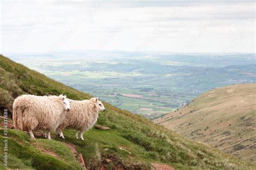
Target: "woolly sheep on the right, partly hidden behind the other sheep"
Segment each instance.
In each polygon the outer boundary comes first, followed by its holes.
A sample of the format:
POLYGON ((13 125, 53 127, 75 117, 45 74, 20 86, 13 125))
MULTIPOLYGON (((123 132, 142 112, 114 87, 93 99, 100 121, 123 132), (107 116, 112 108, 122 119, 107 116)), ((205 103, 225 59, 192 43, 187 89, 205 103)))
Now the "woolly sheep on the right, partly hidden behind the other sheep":
POLYGON ((83 133, 95 125, 99 111, 104 111, 105 107, 98 100, 98 97, 93 97, 90 100, 72 101, 71 111, 66 113, 64 121, 57 128, 59 137, 65 139, 62 130, 64 128, 75 129, 78 139, 78 130, 80 131, 80 139, 84 140, 83 133))

